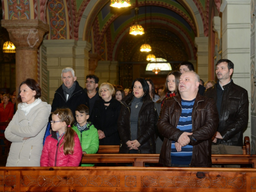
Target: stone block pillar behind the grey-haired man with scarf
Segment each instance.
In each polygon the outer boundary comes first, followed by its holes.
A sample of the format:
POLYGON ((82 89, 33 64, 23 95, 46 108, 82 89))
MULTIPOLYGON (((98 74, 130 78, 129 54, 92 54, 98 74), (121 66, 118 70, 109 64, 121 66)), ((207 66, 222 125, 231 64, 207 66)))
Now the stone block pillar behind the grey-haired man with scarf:
POLYGON ((71 67, 81 87, 85 87, 85 77, 89 73, 89 51, 91 44, 83 40, 58 39, 44 40, 46 47, 47 70, 49 71, 49 102, 52 103, 55 91, 62 84, 61 71, 71 67))

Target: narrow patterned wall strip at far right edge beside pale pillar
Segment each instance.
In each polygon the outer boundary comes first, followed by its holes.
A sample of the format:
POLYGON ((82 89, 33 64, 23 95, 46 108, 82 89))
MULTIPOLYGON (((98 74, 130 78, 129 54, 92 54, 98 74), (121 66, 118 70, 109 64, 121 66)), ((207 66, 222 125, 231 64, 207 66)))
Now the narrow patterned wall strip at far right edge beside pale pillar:
POLYGON ((256 19, 256 0, 251 1, 251 64, 250 64, 250 76, 251 76, 251 154, 256 153, 256 87, 254 85, 253 76, 256 75, 255 67, 255 19, 256 19))

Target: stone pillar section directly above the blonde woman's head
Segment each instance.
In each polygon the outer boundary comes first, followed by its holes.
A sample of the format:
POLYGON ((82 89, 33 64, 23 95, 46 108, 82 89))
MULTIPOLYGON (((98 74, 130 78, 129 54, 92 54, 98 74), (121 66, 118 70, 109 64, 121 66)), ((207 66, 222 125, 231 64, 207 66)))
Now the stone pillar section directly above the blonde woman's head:
POLYGON ((95 75, 99 77, 99 86, 102 82, 118 84, 119 69, 117 61, 98 61, 95 75))

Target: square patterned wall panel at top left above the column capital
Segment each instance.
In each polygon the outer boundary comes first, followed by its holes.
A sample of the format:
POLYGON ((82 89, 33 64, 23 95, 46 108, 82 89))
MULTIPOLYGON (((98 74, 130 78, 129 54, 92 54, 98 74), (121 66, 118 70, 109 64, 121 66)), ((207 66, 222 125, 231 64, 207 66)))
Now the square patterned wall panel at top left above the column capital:
MULTIPOLYGON (((30 19, 30 1, 12 0, 8 1, 8 19, 30 19)), ((33 11, 33 10, 32 10, 33 11)), ((7 19, 7 18, 5 18, 7 19)))

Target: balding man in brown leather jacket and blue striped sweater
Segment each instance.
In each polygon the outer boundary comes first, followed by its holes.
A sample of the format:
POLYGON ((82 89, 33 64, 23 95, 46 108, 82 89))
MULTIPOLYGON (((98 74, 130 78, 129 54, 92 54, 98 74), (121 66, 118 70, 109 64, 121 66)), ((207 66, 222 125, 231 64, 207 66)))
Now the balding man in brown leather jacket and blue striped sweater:
POLYGON ((198 93, 199 81, 195 72, 183 73, 180 95, 164 102, 157 126, 164 136, 159 163, 165 166, 211 166, 211 137, 219 116, 214 100, 198 93))

